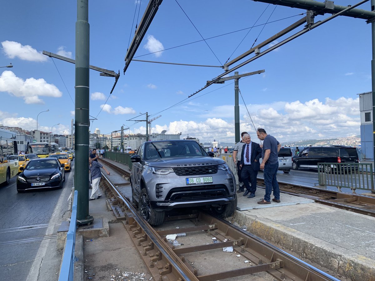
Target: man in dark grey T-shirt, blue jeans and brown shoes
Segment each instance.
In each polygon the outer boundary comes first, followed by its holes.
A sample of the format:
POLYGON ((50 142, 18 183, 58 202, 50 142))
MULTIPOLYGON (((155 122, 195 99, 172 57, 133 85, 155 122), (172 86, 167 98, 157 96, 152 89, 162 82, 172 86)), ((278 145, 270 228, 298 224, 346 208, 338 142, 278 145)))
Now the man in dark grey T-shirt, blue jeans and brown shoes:
POLYGON ((258 202, 258 204, 270 204, 271 193, 273 189, 273 202, 280 203, 280 188, 278 180, 276 179, 276 173, 279 168, 278 154, 281 148, 281 144, 271 135, 267 135, 266 130, 258 128, 257 130, 258 139, 263 141, 262 149, 262 164, 260 165, 261 170, 264 170, 264 184, 266 185, 266 194, 264 199, 258 202))

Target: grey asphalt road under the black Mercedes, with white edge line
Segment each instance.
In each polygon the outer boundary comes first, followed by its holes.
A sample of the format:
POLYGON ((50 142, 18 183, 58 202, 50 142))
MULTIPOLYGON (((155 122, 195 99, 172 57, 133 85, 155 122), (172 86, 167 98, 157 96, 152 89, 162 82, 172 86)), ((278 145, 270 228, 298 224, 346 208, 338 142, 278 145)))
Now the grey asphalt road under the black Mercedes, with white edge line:
POLYGON ((56 236, 69 216, 72 164, 61 189, 17 193, 17 177, 0 187, 0 280, 58 280, 62 251, 56 236))

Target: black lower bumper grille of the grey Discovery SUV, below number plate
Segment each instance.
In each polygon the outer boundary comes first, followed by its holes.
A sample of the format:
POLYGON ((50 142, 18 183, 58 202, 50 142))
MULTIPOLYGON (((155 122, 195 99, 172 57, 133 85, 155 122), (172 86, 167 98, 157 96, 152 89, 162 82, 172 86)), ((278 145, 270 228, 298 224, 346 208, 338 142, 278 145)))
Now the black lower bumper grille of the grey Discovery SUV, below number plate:
POLYGON ((193 185, 172 188, 165 197, 165 201, 209 200, 226 196, 229 196, 229 193, 225 184, 193 185))

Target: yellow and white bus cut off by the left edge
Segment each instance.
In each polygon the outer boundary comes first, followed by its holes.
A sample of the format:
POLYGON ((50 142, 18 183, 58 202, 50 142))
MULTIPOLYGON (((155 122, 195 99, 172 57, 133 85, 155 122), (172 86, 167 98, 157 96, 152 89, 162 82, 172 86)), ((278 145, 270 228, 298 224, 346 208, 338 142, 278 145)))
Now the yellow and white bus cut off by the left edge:
POLYGON ((0 129, 0 184, 8 185, 18 173, 16 134, 0 129))

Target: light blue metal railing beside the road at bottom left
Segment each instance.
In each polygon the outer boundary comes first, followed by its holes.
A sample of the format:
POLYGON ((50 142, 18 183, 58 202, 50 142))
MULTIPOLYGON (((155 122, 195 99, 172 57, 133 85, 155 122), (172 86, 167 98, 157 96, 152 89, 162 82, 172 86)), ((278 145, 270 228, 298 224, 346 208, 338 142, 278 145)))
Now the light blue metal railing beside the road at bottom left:
POLYGON ((72 216, 69 224, 69 231, 66 233, 66 244, 63 256, 63 263, 60 268, 58 281, 73 281, 74 262, 75 262, 75 230, 77 229, 77 199, 78 190, 74 191, 74 200, 72 205, 72 216))

